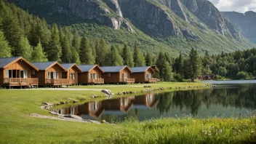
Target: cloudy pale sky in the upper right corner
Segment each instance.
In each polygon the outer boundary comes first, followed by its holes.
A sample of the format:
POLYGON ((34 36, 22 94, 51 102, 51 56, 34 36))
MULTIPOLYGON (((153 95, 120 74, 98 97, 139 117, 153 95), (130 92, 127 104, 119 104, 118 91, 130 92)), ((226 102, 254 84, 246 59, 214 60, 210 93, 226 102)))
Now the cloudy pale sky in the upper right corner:
POLYGON ((209 0, 220 12, 256 12, 256 0, 209 0))

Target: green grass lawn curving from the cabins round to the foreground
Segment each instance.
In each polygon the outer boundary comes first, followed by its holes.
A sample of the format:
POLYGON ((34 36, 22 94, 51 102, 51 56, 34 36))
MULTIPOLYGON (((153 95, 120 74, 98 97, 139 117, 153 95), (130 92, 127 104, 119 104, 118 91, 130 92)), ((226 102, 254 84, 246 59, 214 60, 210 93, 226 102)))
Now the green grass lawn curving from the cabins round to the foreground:
MULTIPOLYGON (((148 85, 148 84, 145 84, 148 85)), ((160 83, 158 85, 152 86, 156 87, 188 87, 190 85, 200 86, 200 83, 160 83)), ((130 87, 130 86, 143 86, 141 84, 132 84, 120 86, 81 86, 73 88, 84 88, 84 89, 111 89, 112 92, 121 91, 134 91, 144 89, 143 87, 130 87)), ((41 110, 39 108, 41 102, 57 103, 62 100, 67 100, 68 97, 74 99, 86 99, 92 95, 101 95, 97 91, 55 91, 55 90, 25 90, 25 89, 0 89, 0 143, 128 143, 132 141, 127 141, 127 137, 131 137, 129 140, 137 140, 137 143, 153 143, 154 139, 152 135, 161 134, 162 132, 171 132, 171 127, 169 129, 169 124, 173 125, 176 123, 180 124, 180 130, 184 130, 186 127, 192 127, 193 121, 201 122, 203 120, 175 120, 175 119, 165 119, 158 120, 159 124, 163 127, 158 127, 158 123, 154 122, 153 125, 149 124, 147 121, 143 123, 135 121, 127 121, 123 124, 107 125, 107 124, 86 124, 77 123, 71 121, 57 121, 51 119, 38 119, 28 116, 28 113, 39 113, 41 115, 49 115, 48 111, 41 110), (155 125, 156 124, 156 125, 155 125), (168 126, 168 127, 167 127, 168 126), (184 127, 183 127, 184 126, 184 127), (152 127, 152 128, 151 128, 152 127), (156 129, 157 128, 157 129, 156 129), (143 130, 144 129, 144 130, 143 130), (148 130, 147 130, 148 129, 148 130), (146 132, 146 139, 143 139, 143 132, 146 132), (120 132, 120 133, 119 133, 120 132), (122 132, 127 132, 129 135, 122 135, 122 132), (136 133, 135 133, 136 132, 136 133), (160 132, 160 133, 159 133, 160 132), (117 135, 116 135, 117 134, 117 135), (116 135, 116 136, 115 136, 116 135), (138 137, 135 139, 135 137, 138 137)), ((218 119, 217 119, 218 120, 218 119)), ((222 121, 219 119, 218 121, 222 121)), ((225 121, 225 120, 223 120, 225 121)), ((228 121, 228 119, 227 119, 228 121)), ((241 140, 253 140, 250 130, 255 128, 255 119, 244 119, 244 120, 233 120, 236 121, 234 124, 250 124, 247 126, 247 130, 242 130, 241 137, 237 139, 241 140), (244 132, 244 133, 243 133, 244 132), (249 138, 251 137, 251 138, 249 138)), ((203 121, 204 122, 204 121, 203 121)), ((210 127, 212 122, 205 120, 204 122, 207 127, 210 127), (208 124, 208 125, 207 125, 208 124)), ((218 124, 217 122, 215 124, 218 124)), ((224 123, 222 127, 235 127, 236 125, 231 125, 230 123, 224 123), (229 126, 225 126, 229 124, 229 126)), ((240 125, 239 125, 240 127, 240 125)), ((245 127, 241 125, 241 127, 245 127)), ((195 135, 199 135, 199 127, 195 129, 195 135)), ((167 132, 167 134, 168 134, 167 132)), ((184 131, 185 132, 185 131, 184 131)), ((227 131, 228 132, 228 131, 227 131)), ((252 132, 252 134, 254 134, 252 132)), ((164 133, 163 133, 164 135, 164 133)), ((176 135, 176 134, 173 134, 176 135)), ((177 133, 180 135, 180 133, 177 133)), ((160 138, 160 137, 159 137, 160 138)), ((196 136, 194 137, 196 140, 196 136)), ((159 139, 160 140, 160 139, 159 139)), ((171 140, 171 139, 170 139, 171 140)), ((204 139, 201 139, 204 141, 204 139)), ((135 143, 136 141, 134 141, 135 143)), ((164 141, 159 141, 164 142, 164 141)), ((192 141, 191 141, 192 142, 192 141)), ((197 141, 194 141, 197 142, 197 141)))

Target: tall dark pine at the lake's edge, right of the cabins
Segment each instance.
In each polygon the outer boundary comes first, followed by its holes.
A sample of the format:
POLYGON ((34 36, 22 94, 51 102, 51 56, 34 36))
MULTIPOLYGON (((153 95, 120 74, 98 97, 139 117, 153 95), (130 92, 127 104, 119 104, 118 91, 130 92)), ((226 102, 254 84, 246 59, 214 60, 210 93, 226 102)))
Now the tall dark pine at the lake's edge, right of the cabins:
POLYGON ((196 51, 196 49, 192 48, 191 52, 189 54, 189 73, 190 73, 190 78, 191 81, 194 81, 194 78, 196 76, 199 76, 200 74, 200 63, 199 63, 199 55, 196 51))

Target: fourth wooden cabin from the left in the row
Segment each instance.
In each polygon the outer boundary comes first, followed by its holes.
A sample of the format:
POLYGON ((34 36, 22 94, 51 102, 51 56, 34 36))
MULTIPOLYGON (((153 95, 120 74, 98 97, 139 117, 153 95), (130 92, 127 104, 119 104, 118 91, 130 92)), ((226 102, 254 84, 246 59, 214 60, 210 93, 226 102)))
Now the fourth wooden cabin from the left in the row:
POLYGON ((104 84, 104 71, 98 65, 79 65, 79 84, 104 84))

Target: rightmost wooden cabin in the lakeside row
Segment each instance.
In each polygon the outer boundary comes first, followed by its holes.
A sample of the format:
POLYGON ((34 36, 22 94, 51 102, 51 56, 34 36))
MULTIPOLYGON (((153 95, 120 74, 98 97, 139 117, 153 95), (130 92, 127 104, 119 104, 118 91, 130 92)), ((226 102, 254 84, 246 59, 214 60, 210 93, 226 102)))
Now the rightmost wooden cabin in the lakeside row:
POLYGON ((131 68, 131 70, 131 77, 134 78, 137 83, 155 83, 157 81, 156 78, 153 78, 155 71, 153 71, 151 66, 135 67, 131 68))

